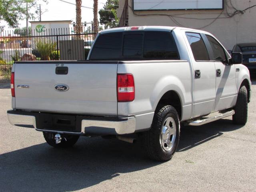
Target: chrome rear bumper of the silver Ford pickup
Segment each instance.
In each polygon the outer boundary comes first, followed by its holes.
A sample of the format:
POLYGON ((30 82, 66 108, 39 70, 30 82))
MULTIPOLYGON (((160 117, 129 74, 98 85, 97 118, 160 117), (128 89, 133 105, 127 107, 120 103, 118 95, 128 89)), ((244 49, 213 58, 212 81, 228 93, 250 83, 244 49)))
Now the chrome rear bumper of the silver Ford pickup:
POLYGON ((43 132, 54 132, 54 133, 64 133, 64 134, 76 134, 76 135, 119 135, 119 134, 131 134, 136 130, 136 118, 134 116, 124 117, 124 118, 97 118, 90 119, 84 116, 81 124, 80 132, 70 132, 64 130, 54 130, 54 129, 40 129, 37 128, 36 116, 38 113, 35 112, 20 112, 15 110, 7 111, 8 120, 10 124, 22 127, 34 127, 37 131, 43 132), (31 115, 30 115, 31 114, 31 115))

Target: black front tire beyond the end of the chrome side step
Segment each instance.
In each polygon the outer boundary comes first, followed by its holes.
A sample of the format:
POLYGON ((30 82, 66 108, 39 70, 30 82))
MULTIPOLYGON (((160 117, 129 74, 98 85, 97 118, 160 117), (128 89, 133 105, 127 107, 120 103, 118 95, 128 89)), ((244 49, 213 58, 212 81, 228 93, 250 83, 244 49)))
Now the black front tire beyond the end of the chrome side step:
POLYGON ((235 114, 232 117, 234 124, 245 125, 247 122, 248 113, 248 98, 246 86, 239 89, 236 106, 234 108, 235 114))

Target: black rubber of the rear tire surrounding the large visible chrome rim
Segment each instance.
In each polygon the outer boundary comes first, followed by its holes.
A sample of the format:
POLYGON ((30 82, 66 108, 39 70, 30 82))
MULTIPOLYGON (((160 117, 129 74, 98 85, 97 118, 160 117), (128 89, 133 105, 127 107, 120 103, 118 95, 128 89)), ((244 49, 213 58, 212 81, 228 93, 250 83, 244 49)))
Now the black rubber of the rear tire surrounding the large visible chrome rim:
MULTIPOLYGON (((170 119, 170 118, 169 118, 170 119)), ((180 120, 178 112, 173 106, 166 105, 156 110, 152 127, 150 130, 142 133, 142 144, 146 155, 152 160, 168 161, 174 155, 178 148, 180 140, 180 120), (162 128, 167 118, 171 117, 175 122, 175 140, 170 150, 164 150, 164 146, 161 143, 162 128)))

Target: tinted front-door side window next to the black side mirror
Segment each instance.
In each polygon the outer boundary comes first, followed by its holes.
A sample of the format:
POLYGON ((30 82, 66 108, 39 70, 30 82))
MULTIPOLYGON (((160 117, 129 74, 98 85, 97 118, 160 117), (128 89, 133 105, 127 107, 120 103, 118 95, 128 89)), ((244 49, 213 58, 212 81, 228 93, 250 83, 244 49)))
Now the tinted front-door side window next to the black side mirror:
POLYGON ((215 61, 221 61, 222 63, 227 63, 226 54, 223 47, 216 41, 213 37, 206 35, 213 51, 213 57, 215 61))

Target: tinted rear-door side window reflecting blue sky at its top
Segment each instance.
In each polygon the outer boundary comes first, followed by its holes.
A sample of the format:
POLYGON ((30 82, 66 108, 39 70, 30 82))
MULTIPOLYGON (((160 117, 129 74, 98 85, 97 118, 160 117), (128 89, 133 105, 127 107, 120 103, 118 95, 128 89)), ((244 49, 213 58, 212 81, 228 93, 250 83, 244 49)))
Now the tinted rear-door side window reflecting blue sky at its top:
POLYGON ((190 47, 192 49, 192 53, 194 55, 194 59, 196 61, 208 61, 209 55, 206 50, 206 46, 204 44, 204 41, 202 40, 202 37, 198 33, 186 33, 186 36, 188 38, 188 42, 190 44, 190 47))

